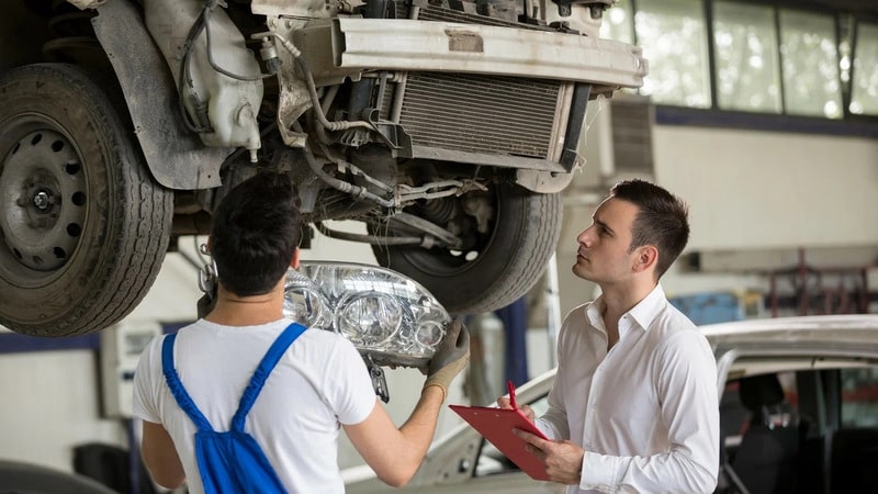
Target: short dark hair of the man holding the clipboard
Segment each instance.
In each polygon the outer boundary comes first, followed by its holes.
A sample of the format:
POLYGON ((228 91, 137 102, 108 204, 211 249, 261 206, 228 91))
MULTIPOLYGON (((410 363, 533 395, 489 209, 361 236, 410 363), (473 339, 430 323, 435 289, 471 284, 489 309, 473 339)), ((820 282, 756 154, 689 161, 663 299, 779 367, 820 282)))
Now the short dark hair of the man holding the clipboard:
POLYGON ((640 210, 631 232, 631 248, 652 245, 658 249, 655 278, 662 278, 689 242, 689 206, 667 190, 645 180, 624 180, 610 195, 640 210))

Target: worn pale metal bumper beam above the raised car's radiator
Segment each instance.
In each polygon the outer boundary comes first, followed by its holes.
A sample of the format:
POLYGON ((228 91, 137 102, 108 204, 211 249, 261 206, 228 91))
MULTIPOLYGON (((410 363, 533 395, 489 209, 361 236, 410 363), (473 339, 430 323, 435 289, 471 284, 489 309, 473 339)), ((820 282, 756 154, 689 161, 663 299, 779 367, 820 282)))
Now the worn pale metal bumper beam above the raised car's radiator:
POLYGON ((493 25, 339 18, 297 30, 293 42, 318 85, 369 70, 437 71, 587 82, 599 93, 639 88, 649 71, 638 46, 493 25))

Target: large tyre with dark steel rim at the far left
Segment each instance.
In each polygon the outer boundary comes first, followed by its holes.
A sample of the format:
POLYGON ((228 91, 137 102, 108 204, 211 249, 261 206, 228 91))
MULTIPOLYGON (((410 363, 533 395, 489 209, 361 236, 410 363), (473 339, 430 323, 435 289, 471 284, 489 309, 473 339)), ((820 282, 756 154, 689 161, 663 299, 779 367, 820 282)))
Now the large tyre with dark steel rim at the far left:
POLYGON ((172 192, 127 117, 75 66, 0 80, 0 324, 34 336, 105 328, 158 274, 172 192))

